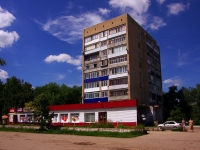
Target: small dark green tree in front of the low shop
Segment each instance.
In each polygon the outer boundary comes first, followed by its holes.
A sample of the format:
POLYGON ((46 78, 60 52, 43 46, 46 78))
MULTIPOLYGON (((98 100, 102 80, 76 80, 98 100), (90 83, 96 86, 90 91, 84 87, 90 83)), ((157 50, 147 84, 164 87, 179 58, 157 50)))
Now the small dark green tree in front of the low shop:
POLYGON ((40 129, 49 129, 52 118, 54 117, 54 113, 49 114, 49 99, 46 94, 38 95, 33 103, 32 107, 34 109, 34 117, 38 118, 38 122, 40 123, 40 129))

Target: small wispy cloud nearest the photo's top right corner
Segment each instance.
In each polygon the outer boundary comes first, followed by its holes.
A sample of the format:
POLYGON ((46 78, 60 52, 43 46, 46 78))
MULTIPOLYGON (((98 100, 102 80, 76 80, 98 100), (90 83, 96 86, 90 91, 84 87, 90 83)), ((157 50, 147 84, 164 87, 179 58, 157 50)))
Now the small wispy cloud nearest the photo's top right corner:
POLYGON ((178 15, 180 12, 189 8, 189 6, 190 6, 190 3, 187 3, 186 5, 182 3, 172 3, 170 5, 167 5, 168 15, 178 15))

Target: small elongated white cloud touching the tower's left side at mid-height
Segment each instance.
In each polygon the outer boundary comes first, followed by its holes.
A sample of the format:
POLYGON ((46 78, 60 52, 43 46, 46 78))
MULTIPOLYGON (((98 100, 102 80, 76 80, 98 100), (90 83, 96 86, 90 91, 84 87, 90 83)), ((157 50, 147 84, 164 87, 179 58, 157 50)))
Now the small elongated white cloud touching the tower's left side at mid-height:
POLYGON ((68 54, 59 54, 59 55, 49 55, 45 60, 46 63, 51 63, 54 61, 57 62, 66 62, 75 66, 79 66, 82 62, 82 56, 79 55, 77 58, 73 58, 68 54))

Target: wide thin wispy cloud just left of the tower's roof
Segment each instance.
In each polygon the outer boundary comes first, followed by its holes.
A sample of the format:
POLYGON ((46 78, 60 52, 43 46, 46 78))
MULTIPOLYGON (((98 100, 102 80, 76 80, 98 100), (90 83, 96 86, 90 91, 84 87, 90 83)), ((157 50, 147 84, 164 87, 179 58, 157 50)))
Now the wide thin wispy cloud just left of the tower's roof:
POLYGON ((82 30, 104 21, 97 13, 84 13, 77 16, 60 16, 48 20, 43 29, 60 40, 74 43, 82 38, 82 30))

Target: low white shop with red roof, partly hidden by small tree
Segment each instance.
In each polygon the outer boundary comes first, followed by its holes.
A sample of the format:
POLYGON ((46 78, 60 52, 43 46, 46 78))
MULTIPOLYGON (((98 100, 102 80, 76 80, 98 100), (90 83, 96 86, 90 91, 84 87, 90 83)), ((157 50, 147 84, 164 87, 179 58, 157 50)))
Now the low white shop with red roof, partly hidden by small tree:
MULTIPOLYGON (((98 102, 86 104, 67 104, 49 106, 50 113, 54 113, 54 126, 85 126, 92 123, 110 122, 114 126, 137 125, 137 100, 123 100, 113 102, 98 102)), ((33 113, 24 109, 11 108, 9 110, 9 124, 31 123, 33 113)))

